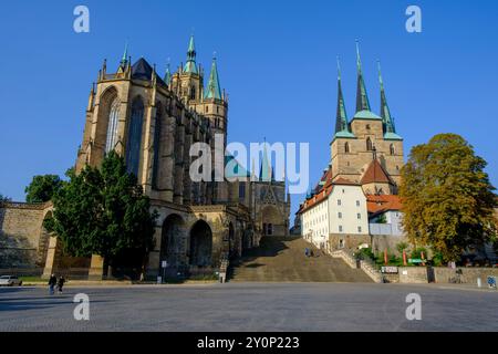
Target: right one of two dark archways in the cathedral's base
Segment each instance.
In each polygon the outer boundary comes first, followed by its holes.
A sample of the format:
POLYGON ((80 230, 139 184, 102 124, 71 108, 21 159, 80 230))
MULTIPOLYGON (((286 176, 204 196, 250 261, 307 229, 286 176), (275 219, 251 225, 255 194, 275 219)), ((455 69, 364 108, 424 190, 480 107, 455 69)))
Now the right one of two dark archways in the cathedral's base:
POLYGON ((190 229, 190 266, 211 266, 212 232, 209 225, 198 220, 190 229))

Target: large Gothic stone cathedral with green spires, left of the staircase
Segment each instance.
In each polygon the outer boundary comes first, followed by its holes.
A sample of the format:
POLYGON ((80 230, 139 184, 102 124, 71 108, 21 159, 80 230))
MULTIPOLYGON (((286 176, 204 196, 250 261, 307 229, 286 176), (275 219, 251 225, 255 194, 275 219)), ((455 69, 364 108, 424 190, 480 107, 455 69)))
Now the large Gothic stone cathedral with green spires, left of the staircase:
MULTIPOLYGON (((212 165, 226 166, 234 159, 225 153, 229 101, 220 86, 216 58, 206 85, 194 37, 185 64, 173 73, 168 65, 160 76, 144 58, 132 63, 127 49, 116 66, 110 72, 104 61, 92 85, 75 169, 100 166, 111 150, 125 158, 128 171, 137 177, 152 209, 159 215, 155 249, 147 257, 147 277, 163 274, 164 264, 170 274, 216 270, 257 247, 262 236, 288 235, 290 197, 286 183, 273 178, 266 146, 258 176, 236 160, 236 168, 221 180, 190 179, 189 152, 195 143, 206 143, 215 152, 215 144, 221 140, 225 156, 219 162, 212 154, 212 165)), ((39 219, 50 216, 50 209, 49 202, 39 219)), ((38 227, 39 231, 28 237, 37 248, 31 261, 37 259, 45 275, 61 264, 71 264, 60 240, 44 232, 41 221, 38 227)), ((103 274, 98 256, 80 264, 87 264, 90 278, 103 274)))

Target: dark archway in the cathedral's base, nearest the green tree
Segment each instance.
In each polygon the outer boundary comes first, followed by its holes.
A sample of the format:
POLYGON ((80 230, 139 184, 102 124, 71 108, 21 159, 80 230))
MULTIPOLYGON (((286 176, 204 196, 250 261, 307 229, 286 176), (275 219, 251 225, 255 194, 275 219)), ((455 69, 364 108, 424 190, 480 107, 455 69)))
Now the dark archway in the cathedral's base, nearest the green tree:
POLYGON ((183 228, 184 219, 177 214, 172 214, 164 220, 160 236, 159 262, 166 261, 168 267, 178 266, 183 228))

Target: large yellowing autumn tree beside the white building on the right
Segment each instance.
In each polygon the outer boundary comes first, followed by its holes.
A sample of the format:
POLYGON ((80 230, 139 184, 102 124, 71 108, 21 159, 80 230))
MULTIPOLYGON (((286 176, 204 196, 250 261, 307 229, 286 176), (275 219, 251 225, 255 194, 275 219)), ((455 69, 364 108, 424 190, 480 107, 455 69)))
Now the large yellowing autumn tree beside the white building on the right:
POLYGON ((438 134, 412 148, 402 169, 403 227, 412 243, 457 261, 470 244, 496 235, 495 189, 486 162, 461 136, 438 134))

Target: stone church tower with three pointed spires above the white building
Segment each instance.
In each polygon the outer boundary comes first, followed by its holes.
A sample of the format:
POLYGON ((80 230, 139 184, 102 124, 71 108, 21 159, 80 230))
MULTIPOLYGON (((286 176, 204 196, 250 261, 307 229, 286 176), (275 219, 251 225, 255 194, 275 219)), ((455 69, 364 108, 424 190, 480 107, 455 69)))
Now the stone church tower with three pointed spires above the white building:
POLYGON ((403 138, 396 134, 378 66, 381 116, 371 110, 356 42, 356 112, 347 122, 338 63, 338 110, 331 143, 332 180, 345 178, 366 194, 397 194, 403 166, 403 138))

